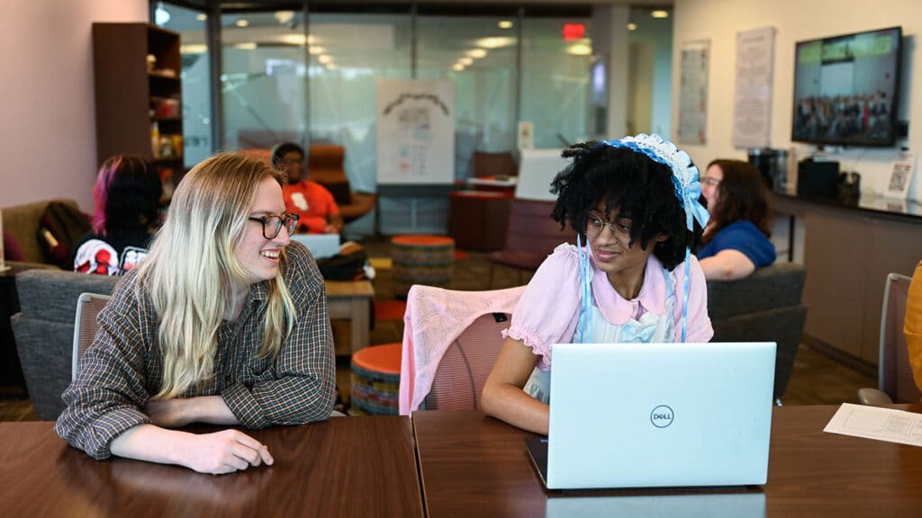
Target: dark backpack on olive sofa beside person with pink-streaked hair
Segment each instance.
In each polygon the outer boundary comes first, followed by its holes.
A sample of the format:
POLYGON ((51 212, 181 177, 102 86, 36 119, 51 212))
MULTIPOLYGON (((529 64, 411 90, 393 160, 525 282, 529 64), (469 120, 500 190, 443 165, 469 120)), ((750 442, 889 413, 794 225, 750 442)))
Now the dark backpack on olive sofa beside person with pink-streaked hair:
POLYGON ((89 217, 76 206, 51 202, 39 218, 39 248, 45 261, 74 269, 74 245, 90 230, 89 217))

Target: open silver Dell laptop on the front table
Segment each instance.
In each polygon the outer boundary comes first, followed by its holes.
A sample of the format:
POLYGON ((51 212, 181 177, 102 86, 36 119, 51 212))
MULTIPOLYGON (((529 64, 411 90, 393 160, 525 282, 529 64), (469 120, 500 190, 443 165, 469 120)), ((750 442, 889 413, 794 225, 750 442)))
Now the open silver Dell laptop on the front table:
POLYGON ((548 489, 764 484, 774 342, 560 344, 548 439, 526 440, 548 489))

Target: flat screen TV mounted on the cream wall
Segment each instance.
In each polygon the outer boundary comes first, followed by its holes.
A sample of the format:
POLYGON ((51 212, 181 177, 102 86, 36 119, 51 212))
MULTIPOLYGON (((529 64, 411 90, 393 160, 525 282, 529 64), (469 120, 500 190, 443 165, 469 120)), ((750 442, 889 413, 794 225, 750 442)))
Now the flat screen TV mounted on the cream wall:
POLYGON ((902 42, 900 27, 798 41, 791 139, 892 146, 902 42))

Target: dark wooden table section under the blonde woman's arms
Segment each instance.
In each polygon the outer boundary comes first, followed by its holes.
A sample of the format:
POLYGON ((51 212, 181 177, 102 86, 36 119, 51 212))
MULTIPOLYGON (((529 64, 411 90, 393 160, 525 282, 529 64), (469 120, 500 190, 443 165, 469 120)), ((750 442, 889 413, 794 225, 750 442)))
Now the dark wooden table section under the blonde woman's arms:
POLYGON ((0 423, 0 515, 421 517, 410 429, 392 416, 250 431, 275 465, 213 476, 95 461, 52 422, 0 423))

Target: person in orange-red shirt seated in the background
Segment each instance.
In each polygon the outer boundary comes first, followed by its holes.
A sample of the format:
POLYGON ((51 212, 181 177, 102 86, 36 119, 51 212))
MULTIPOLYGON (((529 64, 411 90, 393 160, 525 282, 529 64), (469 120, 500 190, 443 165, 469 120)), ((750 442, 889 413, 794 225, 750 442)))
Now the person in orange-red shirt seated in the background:
POLYGON ((285 210, 297 214, 299 232, 309 234, 338 234, 343 228, 343 218, 333 194, 326 187, 307 179, 304 171, 304 149, 293 142, 284 142, 272 149, 272 165, 288 175, 288 184, 282 188, 285 210))

